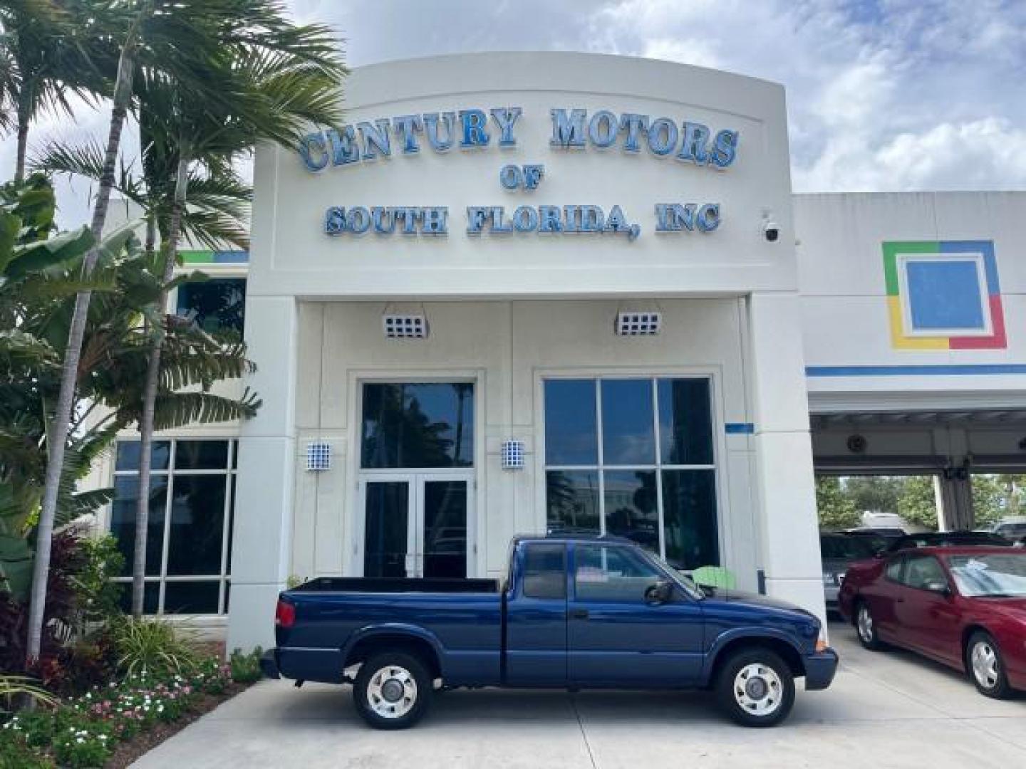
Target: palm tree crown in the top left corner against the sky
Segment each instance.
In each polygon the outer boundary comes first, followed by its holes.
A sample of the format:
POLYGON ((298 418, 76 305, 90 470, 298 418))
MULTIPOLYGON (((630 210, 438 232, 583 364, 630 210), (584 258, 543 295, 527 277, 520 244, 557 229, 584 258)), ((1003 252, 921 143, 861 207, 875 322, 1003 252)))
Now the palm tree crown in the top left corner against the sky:
POLYGON ((70 96, 89 100, 104 88, 108 23, 102 3, 6 0, 0 6, 0 128, 17 136, 15 181, 25 178, 29 128, 39 113, 71 115, 70 96))

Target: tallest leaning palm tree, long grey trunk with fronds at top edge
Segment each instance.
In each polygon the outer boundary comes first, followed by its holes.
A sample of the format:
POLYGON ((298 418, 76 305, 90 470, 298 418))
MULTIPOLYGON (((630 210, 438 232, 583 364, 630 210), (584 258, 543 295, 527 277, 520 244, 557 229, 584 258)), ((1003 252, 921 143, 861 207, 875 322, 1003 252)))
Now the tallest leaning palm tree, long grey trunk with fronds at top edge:
MULTIPOLYGON (((148 72, 171 74, 180 88, 201 97, 207 105, 220 103, 226 93, 222 83, 208 77, 206 63, 231 63, 252 56, 271 59, 295 56, 307 65, 311 74, 322 73, 337 78, 342 73, 330 32, 320 26, 292 25, 275 0, 124 0, 115 7, 118 17, 124 21, 124 32, 114 81, 104 170, 90 227, 97 239, 107 219, 121 131, 132 105, 132 81, 141 66, 148 72)), ((303 87, 302 77, 300 81, 293 84, 303 87)), ((286 138, 294 133, 292 130, 286 138)), ((283 131, 272 138, 282 135, 283 131)), ((173 250, 169 253, 173 254, 173 250)), ((97 257, 95 249, 86 255, 82 266, 85 277, 91 274, 97 257)), ((61 390, 47 434, 49 460, 39 516, 27 643, 30 660, 39 656, 53 517, 90 298, 88 290, 80 292, 76 298, 65 349, 61 390)))

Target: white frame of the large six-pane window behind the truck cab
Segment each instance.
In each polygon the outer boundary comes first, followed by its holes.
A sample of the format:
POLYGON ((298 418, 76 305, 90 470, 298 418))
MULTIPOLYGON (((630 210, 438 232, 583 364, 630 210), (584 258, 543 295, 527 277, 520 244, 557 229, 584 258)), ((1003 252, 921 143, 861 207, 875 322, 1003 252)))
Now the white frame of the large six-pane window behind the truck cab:
POLYGON ((723 525, 724 504, 723 491, 725 488, 722 477, 723 457, 725 456, 725 446, 723 432, 723 415, 721 413, 722 396, 718 391, 719 377, 716 372, 704 368, 672 368, 672 369, 539 369, 535 375, 536 386, 536 440, 538 451, 536 452, 536 473, 540 481, 536 484, 536 499, 539 510, 539 526, 542 531, 548 530, 548 473, 557 472, 594 472, 598 475, 598 515, 599 531, 604 534, 606 531, 605 515, 605 477, 606 472, 616 471, 653 471, 656 473, 656 499, 659 526, 659 552, 655 553, 663 561, 666 560, 666 533, 665 533, 665 505, 663 499, 663 471, 708 471, 712 473, 714 514, 716 517, 716 548, 717 560, 722 565, 724 555, 729 552, 729 532, 723 525), (547 461, 546 447, 546 406, 545 406, 545 385, 547 381, 558 379, 589 379, 595 386, 595 410, 596 410, 596 464, 549 464, 547 461), (604 438, 602 434, 602 388, 604 379, 641 379, 648 381, 652 389, 653 404, 653 428, 654 428, 654 463, 638 464, 605 464, 604 463, 604 438), (659 413, 659 381, 662 379, 703 379, 709 386, 709 423, 710 441, 712 443, 712 463, 702 464, 676 464, 664 463, 662 461, 662 436, 660 435, 660 413, 659 413))

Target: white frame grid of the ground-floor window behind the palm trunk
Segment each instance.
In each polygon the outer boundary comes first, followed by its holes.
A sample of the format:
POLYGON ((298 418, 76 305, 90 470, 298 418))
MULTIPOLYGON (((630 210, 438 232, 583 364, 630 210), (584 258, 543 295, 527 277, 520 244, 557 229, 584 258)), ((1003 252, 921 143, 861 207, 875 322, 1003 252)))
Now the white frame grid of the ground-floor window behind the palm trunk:
MULTIPOLYGON (((165 616, 164 612, 164 598, 166 593, 166 586, 170 582, 218 582, 218 610, 215 612, 185 612, 189 615, 195 616, 227 616, 228 614, 228 603, 229 603, 229 593, 231 589, 232 575, 228 568, 228 563, 231 560, 231 552, 229 549, 229 542, 232 541, 232 527, 234 525, 234 513, 235 513, 235 493, 238 490, 237 476, 238 476, 238 448, 239 440, 237 437, 230 436, 171 436, 171 437, 155 437, 154 443, 167 442, 169 444, 167 468, 163 470, 151 470, 150 475, 152 478, 163 478, 166 485, 167 491, 164 499, 164 527, 162 532, 161 550, 160 550, 160 570, 156 574, 147 574, 144 577, 144 581, 147 585, 152 583, 157 583, 157 608, 156 611, 151 614, 151 616, 165 616), (226 467, 216 468, 212 470, 179 470, 176 466, 176 453, 177 444, 182 441, 193 443, 199 441, 206 442, 218 442, 227 443, 226 452, 226 467), (222 534, 221 534, 221 567, 219 574, 168 574, 167 564, 168 564, 168 552, 170 547, 170 527, 171 527, 171 511, 174 501, 174 477, 197 477, 197 476, 220 476, 225 479, 225 508, 222 513, 222 534)), ((115 444, 115 449, 113 452, 113 460, 111 463, 111 478, 112 484, 118 478, 132 478, 139 477, 139 470, 118 470, 117 469, 117 444, 119 443, 139 443, 137 438, 118 438, 115 444)), ((107 516, 107 532, 111 533, 111 525, 113 524, 113 503, 109 507, 107 516)), ((112 581, 131 585, 132 578, 131 575, 117 576, 113 577, 112 581)), ((144 588, 145 590, 145 588, 144 588)), ((166 614, 166 616, 174 616, 180 612, 172 612, 171 614, 166 614)))

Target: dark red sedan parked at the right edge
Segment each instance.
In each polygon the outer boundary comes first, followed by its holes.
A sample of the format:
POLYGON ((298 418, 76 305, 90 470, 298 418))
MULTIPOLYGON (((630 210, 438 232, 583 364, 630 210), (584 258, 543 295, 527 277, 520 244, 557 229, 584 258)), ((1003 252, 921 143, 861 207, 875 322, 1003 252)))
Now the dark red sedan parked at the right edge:
POLYGON ((983 694, 1026 690, 1026 551, 918 548, 852 564, 841 615, 867 649, 911 649, 983 694))

